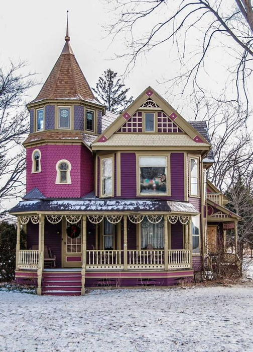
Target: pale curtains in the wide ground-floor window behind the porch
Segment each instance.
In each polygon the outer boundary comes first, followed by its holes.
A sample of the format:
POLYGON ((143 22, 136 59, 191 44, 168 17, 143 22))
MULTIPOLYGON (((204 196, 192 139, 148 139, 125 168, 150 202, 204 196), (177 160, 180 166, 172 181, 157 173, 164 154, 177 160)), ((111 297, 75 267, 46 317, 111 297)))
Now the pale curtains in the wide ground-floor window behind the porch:
POLYGON ((141 249, 164 249, 164 221, 152 224, 145 217, 141 223, 141 249))

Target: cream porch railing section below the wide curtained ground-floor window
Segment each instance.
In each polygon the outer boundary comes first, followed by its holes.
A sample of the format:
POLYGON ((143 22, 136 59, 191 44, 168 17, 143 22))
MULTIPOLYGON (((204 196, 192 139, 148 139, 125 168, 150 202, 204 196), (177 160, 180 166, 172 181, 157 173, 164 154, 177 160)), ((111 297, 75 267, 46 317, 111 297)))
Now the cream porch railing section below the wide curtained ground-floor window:
POLYGON ((129 250, 128 269, 164 269, 164 250, 129 250))

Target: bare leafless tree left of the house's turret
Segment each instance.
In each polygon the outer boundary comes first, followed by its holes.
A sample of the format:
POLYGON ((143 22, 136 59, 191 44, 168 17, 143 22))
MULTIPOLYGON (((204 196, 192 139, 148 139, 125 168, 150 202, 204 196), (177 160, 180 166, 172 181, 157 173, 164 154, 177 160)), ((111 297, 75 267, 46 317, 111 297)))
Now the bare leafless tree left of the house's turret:
POLYGON ((0 216, 6 214, 6 199, 24 190, 26 167, 22 142, 29 132, 28 111, 23 98, 35 82, 33 75, 22 74, 25 62, 0 67, 0 216))

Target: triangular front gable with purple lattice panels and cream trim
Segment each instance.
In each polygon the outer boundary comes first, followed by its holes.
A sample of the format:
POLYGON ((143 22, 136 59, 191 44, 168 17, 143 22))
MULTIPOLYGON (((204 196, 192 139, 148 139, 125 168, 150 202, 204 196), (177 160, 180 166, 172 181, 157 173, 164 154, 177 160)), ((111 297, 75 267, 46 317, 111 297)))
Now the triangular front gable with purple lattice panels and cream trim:
POLYGON ((92 147, 101 144, 106 146, 107 140, 117 133, 144 133, 145 135, 152 134, 153 137, 160 133, 186 134, 193 146, 196 144, 196 146, 203 146, 205 150, 210 149, 207 140, 151 87, 146 89, 96 138, 92 147), (147 112, 155 114, 156 129, 154 132, 144 131, 144 114, 147 112))

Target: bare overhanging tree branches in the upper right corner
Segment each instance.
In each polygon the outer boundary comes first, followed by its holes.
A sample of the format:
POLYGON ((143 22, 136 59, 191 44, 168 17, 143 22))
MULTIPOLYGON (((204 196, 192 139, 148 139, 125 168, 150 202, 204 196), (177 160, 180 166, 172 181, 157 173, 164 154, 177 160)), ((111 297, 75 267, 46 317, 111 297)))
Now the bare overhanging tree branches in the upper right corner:
MULTIPOLYGON (((107 0, 118 15, 109 27, 113 38, 123 34, 128 69, 142 53, 167 43, 176 50, 180 72, 166 82, 171 90, 190 86, 205 95, 203 76, 212 75, 206 65, 212 51, 225 62, 224 77, 232 80, 235 94, 229 100, 243 101, 248 109, 247 82, 252 73, 253 11, 251 0, 107 0), (143 28, 143 30, 142 30, 143 28), (218 48, 218 50, 217 50, 218 48)), ((220 92, 228 90, 224 85, 220 92)), ((229 87, 229 90, 230 87, 229 87)), ((232 92, 230 92, 232 93, 232 92)))

